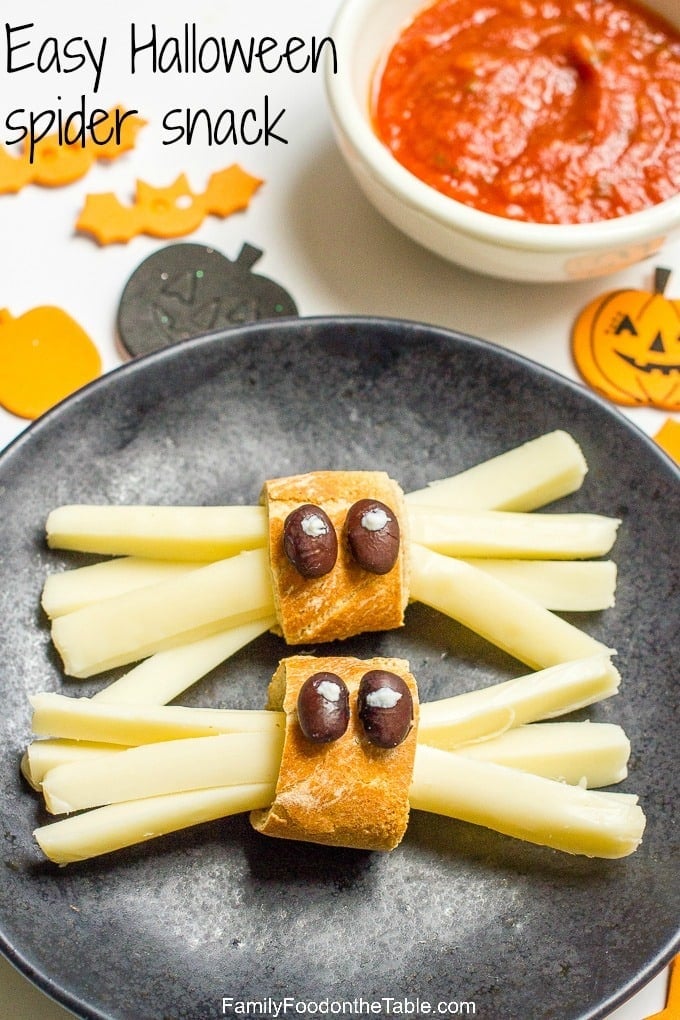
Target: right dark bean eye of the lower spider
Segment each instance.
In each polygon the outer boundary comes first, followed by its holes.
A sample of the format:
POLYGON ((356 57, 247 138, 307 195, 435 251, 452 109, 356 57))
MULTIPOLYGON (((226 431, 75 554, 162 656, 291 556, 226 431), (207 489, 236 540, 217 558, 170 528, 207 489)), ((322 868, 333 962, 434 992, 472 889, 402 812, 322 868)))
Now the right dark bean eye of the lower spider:
POLYGON ((413 725, 413 698, 397 673, 371 669, 359 684, 359 719, 366 736, 378 748, 396 748, 413 725))

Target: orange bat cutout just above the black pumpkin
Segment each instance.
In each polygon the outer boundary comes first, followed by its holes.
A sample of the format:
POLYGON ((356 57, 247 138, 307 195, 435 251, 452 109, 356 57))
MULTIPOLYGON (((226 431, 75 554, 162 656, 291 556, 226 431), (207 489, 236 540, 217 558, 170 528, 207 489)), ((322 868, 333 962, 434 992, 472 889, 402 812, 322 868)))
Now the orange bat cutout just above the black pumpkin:
POLYGON ((138 181, 133 205, 123 205, 110 192, 88 195, 75 226, 101 245, 126 242, 138 234, 179 238, 210 214, 224 217, 246 209, 262 183, 236 163, 213 173, 203 194, 192 191, 184 173, 166 188, 138 181))

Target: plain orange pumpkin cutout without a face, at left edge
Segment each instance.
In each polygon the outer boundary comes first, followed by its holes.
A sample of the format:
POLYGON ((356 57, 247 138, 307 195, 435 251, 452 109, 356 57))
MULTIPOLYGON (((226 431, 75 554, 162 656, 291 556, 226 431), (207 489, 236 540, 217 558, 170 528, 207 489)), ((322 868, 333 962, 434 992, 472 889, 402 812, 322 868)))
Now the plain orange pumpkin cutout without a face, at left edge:
POLYGON ((60 308, 0 309, 0 404, 12 414, 37 418, 101 370, 97 348, 60 308))

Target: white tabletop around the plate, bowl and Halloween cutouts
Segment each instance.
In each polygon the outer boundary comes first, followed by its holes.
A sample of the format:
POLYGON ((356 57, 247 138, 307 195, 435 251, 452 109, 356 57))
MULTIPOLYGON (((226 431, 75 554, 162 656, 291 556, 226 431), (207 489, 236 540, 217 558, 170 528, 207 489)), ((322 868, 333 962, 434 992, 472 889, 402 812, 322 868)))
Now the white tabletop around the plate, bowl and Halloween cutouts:
MULTIPOLYGON (((86 95, 92 106, 120 103, 148 121, 135 150, 111 163, 97 163, 69 187, 29 186, 0 196, 2 285, 0 308, 17 316, 38 305, 66 310, 94 340, 104 370, 121 363, 115 347, 115 315, 124 284, 135 268, 163 242, 136 238, 126 245, 98 247, 76 236, 73 224, 89 193, 112 191, 128 201, 139 177, 156 187, 186 172, 194 191, 203 191, 211 172, 232 162, 265 184, 250 208, 227 219, 207 218, 184 240, 212 246, 236 258, 244 242, 263 250, 257 272, 283 285, 303 315, 357 313, 403 316, 470 333, 523 354, 576 379, 571 354, 573 319, 591 298, 621 288, 646 289, 655 264, 677 272, 670 293, 680 292, 680 245, 647 262, 606 279, 569 285, 520 285, 491 279, 450 265, 420 249, 384 222, 367 204, 333 143, 320 74, 171 75, 130 73, 129 27, 159 35, 179 35, 186 21, 211 33, 248 38, 326 35, 337 0, 116 0, 113 5, 85 0, 6 0, 0 24, 0 125, 7 113, 23 107, 51 108, 61 96, 67 111, 86 95), (21 36, 30 41, 13 64, 38 60, 41 42, 84 36, 107 39, 99 92, 92 72, 68 74, 29 67, 9 73, 4 24, 33 22, 21 36), (279 122, 287 145, 213 146, 195 140, 164 146, 166 110, 201 106, 219 112, 261 105, 268 94, 285 113, 279 122)), ((18 36, 13 37, 18 39, 18 36)), ((2 128, 0 128, 2 130, 2 128)), ((0 136, 0 142, 4 137, 0 136)), ((178 239, 182 240, 182 239, 178 239)), ((669 416, 645 408, 625 411, 639 428, 655 435, 669 416)), ((0 409, 0 449, 29 423, 0 409)), ((661 1010, 668 974, 659 974, 610 1020, 643 1020, 661 1010)), ((0 1016, 12 1020, 64 1020, 70 1013, 48 1000, 0 958, 0 1016)))

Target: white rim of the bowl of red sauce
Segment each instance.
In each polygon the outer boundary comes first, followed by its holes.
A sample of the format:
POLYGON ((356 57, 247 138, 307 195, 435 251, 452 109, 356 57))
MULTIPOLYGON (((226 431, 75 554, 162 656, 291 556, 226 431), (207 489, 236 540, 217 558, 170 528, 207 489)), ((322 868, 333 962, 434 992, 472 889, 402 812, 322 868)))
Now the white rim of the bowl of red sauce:
MULTIPOLYGON (((468 206, 420 181, 389 153, 373 132, 369 120, 370 80, 365 83, 365 106, 359 101, 351 70, 356 41, 365 35, 364 21, 372 10, 389 6, 393 0, 344 0, 330 28, 337 67, 325 64, 325 90, 335 132, 353 150, 370 176, 414 213, 427 216, 471 238, 517 249, 543 252, 576 252, 611 249, 613 245, 659 241, 680 225, 680 193, 646 209, 613 219, 589 223, 535 223, 511 219, 468 206)), ((434 0, 430 0, 434 2, 434 0)), ((413 12, 427 7, 428 0, 412 0, 413 12)), ((404 19, 402 19, 404 20, 404 19)), ((375 68, 389 40, 376 43, 375 68)))

